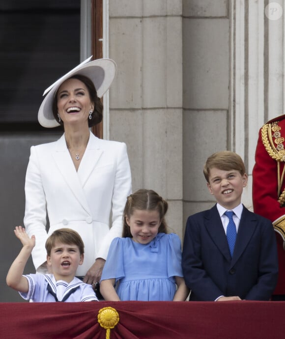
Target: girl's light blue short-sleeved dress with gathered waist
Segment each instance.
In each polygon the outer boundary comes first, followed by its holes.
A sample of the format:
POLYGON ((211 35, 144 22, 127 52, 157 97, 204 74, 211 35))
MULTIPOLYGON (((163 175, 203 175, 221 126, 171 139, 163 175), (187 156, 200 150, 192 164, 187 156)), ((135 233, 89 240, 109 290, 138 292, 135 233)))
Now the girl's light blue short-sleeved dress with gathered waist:
POLYGON ((146 245, 132 238, 115 238, 103 269, 102 280, 115 279, 122 301, 171 301, 175 276, 183 277, 178 235, 158 233, 146 245))

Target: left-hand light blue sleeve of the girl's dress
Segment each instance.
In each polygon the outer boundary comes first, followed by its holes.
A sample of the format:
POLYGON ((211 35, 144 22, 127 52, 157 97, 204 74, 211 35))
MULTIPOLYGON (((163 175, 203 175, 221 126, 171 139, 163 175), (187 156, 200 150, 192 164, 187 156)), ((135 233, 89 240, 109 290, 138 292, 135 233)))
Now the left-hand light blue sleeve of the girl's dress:
POLYGON ((115 282, 125 276, 123 242, 127 238, 114 238, 103 268, 102 280, 115 279, 115 282))

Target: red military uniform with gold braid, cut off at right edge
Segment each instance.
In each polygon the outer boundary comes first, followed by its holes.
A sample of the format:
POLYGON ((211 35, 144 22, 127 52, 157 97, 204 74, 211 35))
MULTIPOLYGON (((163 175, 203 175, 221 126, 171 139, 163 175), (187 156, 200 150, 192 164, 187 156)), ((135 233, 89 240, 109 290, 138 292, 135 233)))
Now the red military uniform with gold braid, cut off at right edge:
POLYGON ((270 219, 276 231, 279 277, 274 294, 285 295, 285 115, 261 127, 255 160, 254 212, 270 219))

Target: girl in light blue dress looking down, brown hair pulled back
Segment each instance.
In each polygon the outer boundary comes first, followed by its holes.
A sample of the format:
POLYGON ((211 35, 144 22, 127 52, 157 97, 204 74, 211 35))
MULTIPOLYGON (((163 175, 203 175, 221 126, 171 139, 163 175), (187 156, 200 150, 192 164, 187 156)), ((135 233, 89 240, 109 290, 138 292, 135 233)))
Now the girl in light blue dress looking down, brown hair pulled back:
POLYGON ((167 234, 167 209, 167 201, 152 190, 139 190, 127 198, 122 238, 113 240, 102 273, 100 292, 105 300, 187 298, 181 242, 176 234, 167 234))

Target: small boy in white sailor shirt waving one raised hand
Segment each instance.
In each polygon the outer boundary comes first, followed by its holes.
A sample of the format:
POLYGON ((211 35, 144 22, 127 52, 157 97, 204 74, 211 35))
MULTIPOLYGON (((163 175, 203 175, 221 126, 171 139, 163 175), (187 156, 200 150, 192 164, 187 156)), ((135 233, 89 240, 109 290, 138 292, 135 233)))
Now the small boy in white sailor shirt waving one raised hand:
POLYGON ((16 226, 15 235, 23 248, 13 261, 6 277, 7 285, 33 302, 98 301, 91 285, 75 277, 84 259, 84 244, 80 235, 69 228, 55 230, 46 241, 47 264, 53 274, 23 275, 35 246, 35 237, 28 237, 25 228, 16 226))

